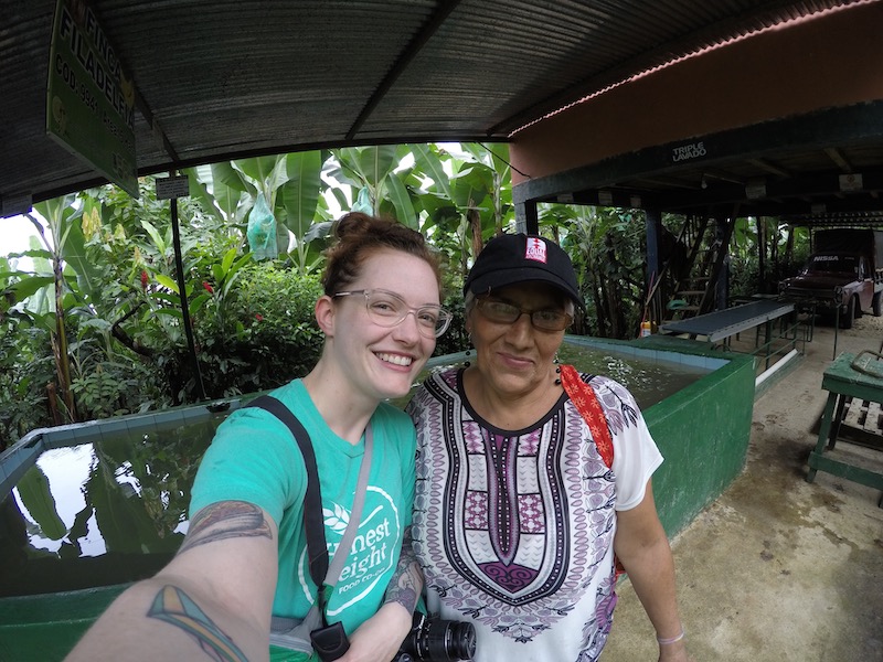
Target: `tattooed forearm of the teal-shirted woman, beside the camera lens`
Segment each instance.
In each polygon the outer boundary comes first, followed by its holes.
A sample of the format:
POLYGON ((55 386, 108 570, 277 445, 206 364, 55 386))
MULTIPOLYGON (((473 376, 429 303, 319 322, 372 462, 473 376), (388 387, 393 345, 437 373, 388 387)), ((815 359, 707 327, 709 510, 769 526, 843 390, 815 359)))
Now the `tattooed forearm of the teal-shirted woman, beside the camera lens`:
POLYGON ((423 572, 405 528, 402 555, 390 579, 383 606, 350 638, 350 650, 340 662, 392 660, 411 630, 412 616, 423 591, 423 572))

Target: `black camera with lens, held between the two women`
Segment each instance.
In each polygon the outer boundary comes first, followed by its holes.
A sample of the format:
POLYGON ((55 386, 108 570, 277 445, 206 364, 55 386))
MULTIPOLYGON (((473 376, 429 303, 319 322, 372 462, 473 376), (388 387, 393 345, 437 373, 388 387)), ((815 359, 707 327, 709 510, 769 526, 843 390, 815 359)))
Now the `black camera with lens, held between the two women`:
POLYGON ((476 629, 466 621, 414 613, 414 626, 393 662, 458 662, 476 654, 476 629))

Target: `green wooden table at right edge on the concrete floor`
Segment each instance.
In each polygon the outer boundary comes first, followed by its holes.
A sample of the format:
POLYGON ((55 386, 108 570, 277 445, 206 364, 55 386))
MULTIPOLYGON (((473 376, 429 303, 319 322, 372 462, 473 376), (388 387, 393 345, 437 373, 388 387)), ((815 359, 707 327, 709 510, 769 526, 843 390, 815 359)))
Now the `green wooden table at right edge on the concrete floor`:
MULTIPOLYGON (((819 426, 819 440, 809 456, 807 481, 812 482, 817 471, 839 476, 849 481, 870 488, 883 490, 883 455, 871 458, 868 462, 857 462, 858 458, 831 457, 843 420, 843 410, 848 398, 861 398, 870 403, 883 403, 883 359, 874 352, 861 352, 858 355, 849 352, 840 354, 825 371, 822 389, 828 392, 828 402, 819 426), (827 448, 826 448, 827 442, 827 448)), ((862 445, 883 453, 883 444, 877 446, 862 445)), ((883 506, 883 498, 880 505, 883 506)))

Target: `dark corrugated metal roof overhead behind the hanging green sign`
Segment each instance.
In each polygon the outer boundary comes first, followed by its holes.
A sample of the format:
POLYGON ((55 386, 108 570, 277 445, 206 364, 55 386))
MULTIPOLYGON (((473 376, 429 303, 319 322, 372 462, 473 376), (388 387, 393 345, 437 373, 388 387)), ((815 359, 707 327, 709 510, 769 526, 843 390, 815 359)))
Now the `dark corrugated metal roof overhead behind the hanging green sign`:
MULTIPOLYGON (((93 0, 139 173, 320 146, 502 140, 703 47, 860 0, 93 0), (151 129, 151 118, 166 138, 151 129)), ((0 200, 102 177, 45 132, 54 0, 2 0, 0 200)))

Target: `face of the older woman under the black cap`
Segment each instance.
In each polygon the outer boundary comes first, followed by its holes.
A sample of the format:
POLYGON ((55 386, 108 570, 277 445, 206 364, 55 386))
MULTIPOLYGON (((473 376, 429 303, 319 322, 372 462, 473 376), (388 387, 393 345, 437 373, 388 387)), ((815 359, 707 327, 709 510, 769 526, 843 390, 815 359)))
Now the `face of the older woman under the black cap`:
MULTIPOLYGON (((522 310, 565 310, 563 295, 554 287, 530 281, 493 290, 492 299, 522 310)), ((564 331, 543 331, 529 314, 512 323, 489 320, 479 307, 467 319, 476 349, 476 367, 481 388, 502 397, 521 397, 547 388, 554 380, 553 361, 564 331)))

